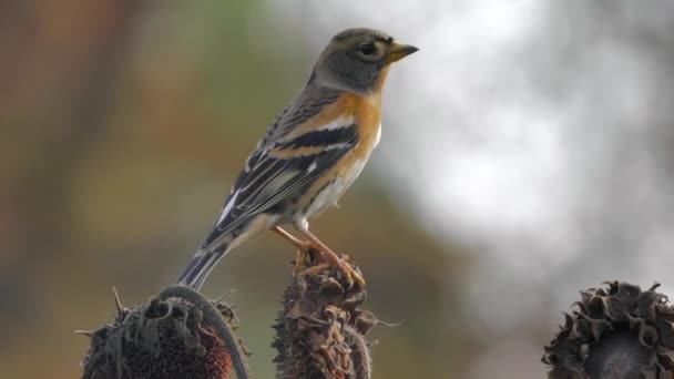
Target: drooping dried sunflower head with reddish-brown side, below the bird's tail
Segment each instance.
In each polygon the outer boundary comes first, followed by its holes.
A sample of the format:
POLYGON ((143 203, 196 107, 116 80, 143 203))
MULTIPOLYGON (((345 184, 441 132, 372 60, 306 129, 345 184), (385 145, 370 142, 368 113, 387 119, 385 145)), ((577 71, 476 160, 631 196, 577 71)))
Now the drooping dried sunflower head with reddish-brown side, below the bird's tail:
POLYGON ((233 362, 219 322, 233 315, 196 293, 187 295, 160 295, 130 309, 118 301, 114 322, 89 334, 83 378, 226 378, 233 362))

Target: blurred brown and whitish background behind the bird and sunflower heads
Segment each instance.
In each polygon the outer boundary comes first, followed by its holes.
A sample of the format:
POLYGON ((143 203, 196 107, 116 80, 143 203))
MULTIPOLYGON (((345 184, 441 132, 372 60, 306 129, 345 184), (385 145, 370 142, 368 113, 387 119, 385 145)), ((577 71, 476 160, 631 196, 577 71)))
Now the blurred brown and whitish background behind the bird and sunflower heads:
MULTIPOLYGON (((418 45, 371 164, 313 229, 360 264, 375 378, 542 378, 578 290, 674 281, 674 3, 0 3, 0 377, 74 378, 92 329, 172 284, 329 38, 418 45), (507 372, 507 373, 504 373, 507 372)), ((294 250, 229 297, 258 378, 294 250)))

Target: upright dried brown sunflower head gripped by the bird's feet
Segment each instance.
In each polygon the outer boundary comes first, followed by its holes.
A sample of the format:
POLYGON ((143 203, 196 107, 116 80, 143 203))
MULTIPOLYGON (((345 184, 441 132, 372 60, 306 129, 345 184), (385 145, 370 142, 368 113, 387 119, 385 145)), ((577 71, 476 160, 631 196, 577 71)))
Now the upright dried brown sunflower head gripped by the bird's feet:
MULTIPOLYGON (((320 262, 312 262, 316 267, 320 262)), ((339 273, 325 268, 298 275, 286 287, 274 328, 277 378, 367 379, 371 361, 365 335, 378 321, 359 309, 364 288, 347 288, 339 273)))

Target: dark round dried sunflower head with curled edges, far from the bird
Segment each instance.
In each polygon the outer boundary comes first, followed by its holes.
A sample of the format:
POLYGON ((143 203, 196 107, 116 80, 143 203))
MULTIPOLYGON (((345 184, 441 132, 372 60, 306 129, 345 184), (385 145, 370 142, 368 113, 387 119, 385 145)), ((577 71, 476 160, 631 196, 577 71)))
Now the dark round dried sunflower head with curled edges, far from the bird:
POLYGON ((581 291, 542 360, 551 379, 674 378, 674 308, 655 284, 581 291))

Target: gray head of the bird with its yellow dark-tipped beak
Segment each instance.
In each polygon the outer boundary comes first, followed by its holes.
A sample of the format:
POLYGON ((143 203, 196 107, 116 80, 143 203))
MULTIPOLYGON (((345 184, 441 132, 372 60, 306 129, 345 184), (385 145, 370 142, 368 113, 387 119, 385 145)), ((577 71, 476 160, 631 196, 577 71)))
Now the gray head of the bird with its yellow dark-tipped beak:
POLYGON ((417 50, 378 30, 347 29, 333 37, 309 82, 356 93, 378 91, 388 65, 417 50))

